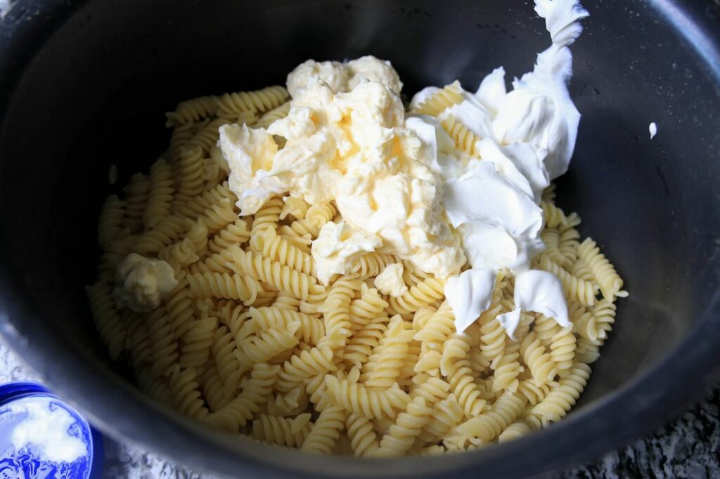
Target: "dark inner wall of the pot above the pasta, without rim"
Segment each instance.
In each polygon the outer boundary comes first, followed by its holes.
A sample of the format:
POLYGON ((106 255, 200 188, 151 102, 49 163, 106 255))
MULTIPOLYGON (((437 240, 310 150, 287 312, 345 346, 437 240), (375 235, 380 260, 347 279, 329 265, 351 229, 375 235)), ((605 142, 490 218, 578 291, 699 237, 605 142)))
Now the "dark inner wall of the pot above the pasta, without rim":
MULTIPOLYGON (((720 211, 708 208, 720 180, 718 124, 707 123, 720 111, 713 71, 653 6, 587 6, 570 88, 582 121, 558 202, 580 214, 582 235, 598 241, 630 296, 582 407, 669 354, 718 287, 720 264, 720 211)), ((365 54, 391 60, 408 97, 455 78, 474 90, 499 65, 508 78, 531 70, 548 45, 521 0, 86 1, 24 53, 32 61, 0 140, 4 255, 58 342, 108 365, 113 383, 131 381, 109 361, 83 286, 94 280, 102 201, 166 148, 164 111, 284 84, 307 58, 365 54)))

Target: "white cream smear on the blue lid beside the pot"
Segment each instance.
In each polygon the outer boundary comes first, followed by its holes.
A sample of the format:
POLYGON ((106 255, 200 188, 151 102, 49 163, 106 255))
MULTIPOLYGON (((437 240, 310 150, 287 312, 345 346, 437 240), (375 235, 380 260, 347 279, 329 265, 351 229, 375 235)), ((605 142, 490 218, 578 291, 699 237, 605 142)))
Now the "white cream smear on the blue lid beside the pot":
POLYGON ((55 403, 50 409, 47 398, 32 397, 13 401, 6 407, 14 416, 27 415, 10 433, 15 450, 32 445, 43 460, 50 462, 73 462, 87 455, 83 440, 68 432, 77 419, 63 407, 55 403))

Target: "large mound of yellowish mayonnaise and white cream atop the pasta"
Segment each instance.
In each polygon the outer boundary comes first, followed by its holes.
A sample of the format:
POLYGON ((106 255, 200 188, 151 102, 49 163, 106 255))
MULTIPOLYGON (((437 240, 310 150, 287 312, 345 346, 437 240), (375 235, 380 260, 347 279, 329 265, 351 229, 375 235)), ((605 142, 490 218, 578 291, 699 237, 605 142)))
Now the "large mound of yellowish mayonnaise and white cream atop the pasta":
MULTIPOLYGON (((496 272, 509 268, 519 309, 567 324, 559 280, 529 269, 544 249, 541 192, 567 171, 575 149, 580 113, 567 91, 568 46, 588 12, 577 0, 535 4, 552 45, 534 70, 508 92, 505 70, 496 68, 438 118, 405 114, 402 83, 386 61, 299 65, 287 78, 286 118, 268 129, 220 128, 240 214, 284 193, 309 204, 334 201, 343 222, 327 224, 312 245, 321 282, 349 273, 364 252, 392 252, 448 279, 446 298, 462 332, 490 305, 496 272), (449 115, 480 137, 480 158, 454 147, 440 124, 449 115), (287 140, 282 149, 274 135, 287 140), (460 274, 466 263, 472 268, 460 274)), ((411 105, 437 91, 423 89, 411 105)), ((401 279, 394 268, 376 286, 397 296, 401 279)), ((519 317, 518 310, 500 318, 508 334, 519 317)))

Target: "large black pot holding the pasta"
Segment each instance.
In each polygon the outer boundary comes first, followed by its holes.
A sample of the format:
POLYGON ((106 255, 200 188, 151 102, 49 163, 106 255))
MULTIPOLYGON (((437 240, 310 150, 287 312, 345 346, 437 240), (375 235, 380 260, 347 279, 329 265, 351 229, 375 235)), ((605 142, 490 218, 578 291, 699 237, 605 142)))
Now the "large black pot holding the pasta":
POLYGON ((559 424, 396 460, 238 441, 137 391, 99 342, 83 288, 102 199, 118 190, 109 165, 118 184, 148 168, 177 101, 284 83, 307 58, 367 53, 392 60, 407 93, 455 78, 474 88, 498 65, 519 76, 549 45, 526 0, 10 0, 0 17, 1 333, 104 432, 229 476, 516 477, 651 431, 714 382, 720 359, 720 7, 586 3, 592 16, 572 47, 583 117, 559 203, 580 213, 631 295, 559 424))

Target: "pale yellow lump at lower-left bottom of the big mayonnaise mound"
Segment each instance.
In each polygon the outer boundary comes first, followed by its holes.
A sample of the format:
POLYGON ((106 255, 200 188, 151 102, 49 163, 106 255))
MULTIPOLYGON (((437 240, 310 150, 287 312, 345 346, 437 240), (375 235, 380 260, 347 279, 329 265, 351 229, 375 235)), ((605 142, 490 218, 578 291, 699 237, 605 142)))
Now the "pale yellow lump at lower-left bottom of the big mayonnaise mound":
POLYGON ((359 257, 381 245, 382 240, 376 235, 363 234, 344 221, 325 223, 318 239, 312 242, 318 280, 330 283, 334 275, 348 273, 359 257))

